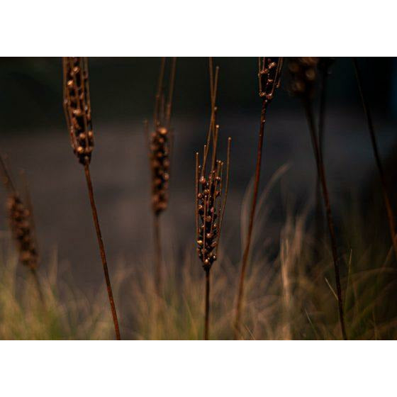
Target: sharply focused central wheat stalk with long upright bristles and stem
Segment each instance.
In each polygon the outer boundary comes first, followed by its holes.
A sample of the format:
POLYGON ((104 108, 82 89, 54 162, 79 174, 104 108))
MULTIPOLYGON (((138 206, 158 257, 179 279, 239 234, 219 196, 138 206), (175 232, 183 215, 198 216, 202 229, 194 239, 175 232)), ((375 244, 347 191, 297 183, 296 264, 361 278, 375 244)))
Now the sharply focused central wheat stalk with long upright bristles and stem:
POLYGON ((196 241, 197 252, 204 272, 206 273, 206 296, 204 315, 203 339, 209 338, 209 313, 210 313, 210 274, 213 262, 218 255, 220 232, 222 230, 225 205, 228 197, 230 148, 231 138, 228 138, 228 155, 225 169, 225 186, 223 186, 224 163, 218 160, 218 135, 219 125, 216 124, 216 91, 218 84, 219 68, 216 67, 213 76, 212 59, 209 63, 210 91, 211 91, 211 119, 207 133, 206 145, 203 150, 203 160, 200 162, 196 152, 196 241), (211 158, 208 157, 211 152, 211 158), (209 167, 206 172, 206 167, 209 167))

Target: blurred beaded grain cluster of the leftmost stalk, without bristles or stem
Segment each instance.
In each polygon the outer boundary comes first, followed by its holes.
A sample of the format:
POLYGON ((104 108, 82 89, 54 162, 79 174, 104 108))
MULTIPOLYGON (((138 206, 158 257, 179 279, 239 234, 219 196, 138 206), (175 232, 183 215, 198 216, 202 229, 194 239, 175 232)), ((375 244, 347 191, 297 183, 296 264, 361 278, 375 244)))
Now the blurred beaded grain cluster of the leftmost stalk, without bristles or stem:
POLYGON ((19 259, 24 265, 35 269, 38 265, 38 252, 33 237, 33 225, 30 222, 30 211, 16 195, 10 197, 7 204, 11 233, 18 243, 19 259))

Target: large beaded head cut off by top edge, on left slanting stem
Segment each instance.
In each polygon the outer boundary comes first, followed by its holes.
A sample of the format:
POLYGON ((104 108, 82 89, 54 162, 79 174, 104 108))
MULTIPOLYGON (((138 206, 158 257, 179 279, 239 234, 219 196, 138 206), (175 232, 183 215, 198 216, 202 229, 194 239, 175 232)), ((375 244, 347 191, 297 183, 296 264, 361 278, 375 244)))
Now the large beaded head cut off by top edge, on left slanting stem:
POLYGON ((88 71, 80 57, 67 57, 65 68, 65 106, 69 117, 72 148, 79 162, 88 164, 94 148, 88 71))

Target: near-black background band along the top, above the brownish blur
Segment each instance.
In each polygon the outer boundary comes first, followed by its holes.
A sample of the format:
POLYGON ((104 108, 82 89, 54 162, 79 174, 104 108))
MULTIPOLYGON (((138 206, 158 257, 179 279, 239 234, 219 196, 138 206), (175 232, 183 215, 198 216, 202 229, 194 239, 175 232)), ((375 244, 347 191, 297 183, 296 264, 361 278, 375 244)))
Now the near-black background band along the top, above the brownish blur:
MULTIPOLYGON (((255 58, 215 58, 220 66, 218 103, 238 115, 257 110, 257 62, 255 58)), ((89 59, 92 107, 97 123, 141 121, 150 116, 160 60, 144 57, 89 59)), ((361 58, 365 89, 371 106, 384 116, 396 114, 397 67, 394 58, 361 58)), ((196 116, 206 110, 208 60, 179 58, 174 116, 196 116)), ((330 104, 357 108, 357 84, 349 58, 332 67, 330 104)), ((62 128, 62 61, 60 58, 1 58, 1 129, 62 128)), ((284 70, 284 72, 286 72, 284 70)), ((278 94, 274 108, 296 108, 286 92, 278 94)))

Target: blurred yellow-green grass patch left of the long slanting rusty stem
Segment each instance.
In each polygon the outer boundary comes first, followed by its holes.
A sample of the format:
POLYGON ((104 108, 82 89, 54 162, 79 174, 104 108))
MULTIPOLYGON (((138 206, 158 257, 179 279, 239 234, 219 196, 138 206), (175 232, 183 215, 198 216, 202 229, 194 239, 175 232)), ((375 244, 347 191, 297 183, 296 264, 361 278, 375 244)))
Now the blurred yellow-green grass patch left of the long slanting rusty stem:
POLYGON ((112 336, 104 293, 89 301, 72 284, 60 281, 57 258, 40 274, 45 305, 33 276, 21 268, 9 237, 1 239, 0 339, 87 340, 112 336), (62 296, 62 298, 61 298, 62 296))

